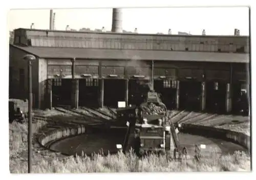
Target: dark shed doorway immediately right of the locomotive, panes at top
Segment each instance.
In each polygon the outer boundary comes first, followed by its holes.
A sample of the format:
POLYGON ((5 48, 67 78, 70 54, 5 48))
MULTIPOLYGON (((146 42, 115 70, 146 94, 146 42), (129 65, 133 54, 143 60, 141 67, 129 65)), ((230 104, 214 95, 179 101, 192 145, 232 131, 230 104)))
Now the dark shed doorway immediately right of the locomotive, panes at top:
POLYGON ((176 109, 177 81, 155 80, 154 89, 160 93, 160 98, 167 109, 176 109))

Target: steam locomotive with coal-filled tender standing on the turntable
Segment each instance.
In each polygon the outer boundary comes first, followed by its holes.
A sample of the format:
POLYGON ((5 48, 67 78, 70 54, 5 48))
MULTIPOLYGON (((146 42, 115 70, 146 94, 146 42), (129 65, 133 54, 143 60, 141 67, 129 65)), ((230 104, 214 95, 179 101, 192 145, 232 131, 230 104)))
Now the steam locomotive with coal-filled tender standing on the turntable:
POLYGON ((174 127, 168 124, 165 118, 167 109, 159 98, 159 94, 150 90, 144 94, 144 102, 139 106, 131 106, 117 109, 117 120, 127 126, 127 132, 123 144, 117 146, 123 152, 134 147, 135 132, 140 132, 140 150, 146 153, 165 153, 172 149, 174 141, 171 134, 175 134, 174 127), (158 111, 156 111, 158 110, 158 111))

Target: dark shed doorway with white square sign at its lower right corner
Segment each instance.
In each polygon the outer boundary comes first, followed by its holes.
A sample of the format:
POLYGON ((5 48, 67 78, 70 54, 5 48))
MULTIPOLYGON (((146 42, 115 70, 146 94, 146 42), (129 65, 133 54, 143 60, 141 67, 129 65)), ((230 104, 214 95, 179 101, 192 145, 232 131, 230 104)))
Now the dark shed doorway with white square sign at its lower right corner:
POLYGON ((125 101, 125 80, 104 80, 104 106, 117 108, 118 101, 125 101))

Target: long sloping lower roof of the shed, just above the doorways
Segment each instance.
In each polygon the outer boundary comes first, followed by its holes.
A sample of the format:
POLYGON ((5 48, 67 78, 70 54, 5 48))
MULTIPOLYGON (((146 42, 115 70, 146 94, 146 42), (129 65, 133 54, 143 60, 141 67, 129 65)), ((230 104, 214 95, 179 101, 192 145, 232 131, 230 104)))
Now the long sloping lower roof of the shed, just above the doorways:
MULTIPOLYGON (((11 44, 10 44, 11 45, 11 44)), ((171 50, 124 50, 93 48, 56 48, 56 47, 22 47, 26 53, 46 59, 117 59, 117 60, 163 60, 163 61, 198 61, 249 63, 249 54, 211 53, 211 52, 177 52, 171 50)))

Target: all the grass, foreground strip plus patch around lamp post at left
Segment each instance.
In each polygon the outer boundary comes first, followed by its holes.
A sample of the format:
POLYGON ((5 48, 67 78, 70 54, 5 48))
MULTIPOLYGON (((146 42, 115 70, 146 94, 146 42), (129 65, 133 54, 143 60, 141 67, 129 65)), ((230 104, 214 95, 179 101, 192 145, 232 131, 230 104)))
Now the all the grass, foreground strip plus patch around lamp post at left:
MULTIPOLYGON (((33 124, 33 132, 46 122, 33 124)), ((10 137, 10 172, 27 173, 27 124, 13 122, 9 128, 10 137)), ((102 157, 67 158, 60 160, 58 153, 47 151, 37 153, 33 150, 34 173, 82 173, 82 172, 173 172, 173 171, 250 171, 250 157, 245 153, 236 152, 234 155, 219 157, 211 153, 211 158, 200 163, 188 160, 183 162, 167 162, 164 157, 150 156, 137 161, 132 153, 102 157)))

